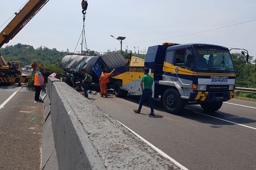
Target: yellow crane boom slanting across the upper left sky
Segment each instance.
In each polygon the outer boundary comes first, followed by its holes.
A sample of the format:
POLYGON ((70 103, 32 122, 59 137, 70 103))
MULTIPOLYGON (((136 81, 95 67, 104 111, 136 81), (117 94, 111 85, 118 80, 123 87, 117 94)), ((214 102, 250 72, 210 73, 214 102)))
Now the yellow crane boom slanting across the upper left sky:
POLYGON ((49 0, 29 0, 11 22, 0 32, 0 48, 8 43, 49 0))

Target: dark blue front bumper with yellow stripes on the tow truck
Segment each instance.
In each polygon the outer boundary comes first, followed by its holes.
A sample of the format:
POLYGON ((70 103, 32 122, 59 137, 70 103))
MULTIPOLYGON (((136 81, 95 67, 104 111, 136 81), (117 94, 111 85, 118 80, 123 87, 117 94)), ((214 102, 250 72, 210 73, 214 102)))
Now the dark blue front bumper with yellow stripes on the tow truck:
POLYGON ((191 92, 189 100, 202 102, 225 102, 236 97, 236 91, 209 92, 197 91, 191 92))

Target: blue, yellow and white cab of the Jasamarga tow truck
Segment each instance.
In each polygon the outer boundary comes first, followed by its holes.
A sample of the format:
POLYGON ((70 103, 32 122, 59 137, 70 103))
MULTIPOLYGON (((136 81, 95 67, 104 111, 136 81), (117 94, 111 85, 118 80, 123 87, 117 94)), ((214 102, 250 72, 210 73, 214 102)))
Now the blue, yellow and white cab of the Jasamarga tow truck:
POLYGON ((167 112, 177 114, 184 105, 200 104, 209 112, 235 97, 235 71, 228 48, 211 44, 169 46, 159 79, 167 112))

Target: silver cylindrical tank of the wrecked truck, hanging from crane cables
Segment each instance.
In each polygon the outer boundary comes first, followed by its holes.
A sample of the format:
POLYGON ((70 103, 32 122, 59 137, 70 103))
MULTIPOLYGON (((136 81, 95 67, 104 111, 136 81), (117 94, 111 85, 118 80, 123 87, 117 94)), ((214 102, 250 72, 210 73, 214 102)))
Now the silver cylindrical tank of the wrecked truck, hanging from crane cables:
POLYGON ((67 72, 75 69, 81 75, 81 70, 84 69, 87 74, 91 74, 97 58, 97 56, 68 55, 62 58, 60 65, 67 72))

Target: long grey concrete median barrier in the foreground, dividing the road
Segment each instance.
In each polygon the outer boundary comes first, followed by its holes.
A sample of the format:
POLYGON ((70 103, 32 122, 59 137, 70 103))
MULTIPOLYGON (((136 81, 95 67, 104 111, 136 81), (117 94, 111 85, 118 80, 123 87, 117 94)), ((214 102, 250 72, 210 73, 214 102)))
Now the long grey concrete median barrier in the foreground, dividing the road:
POLYGON ((182 169, 56 78, 44 102, 44 170, 182 169))

